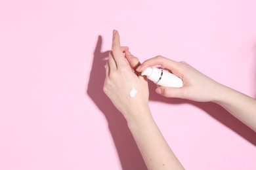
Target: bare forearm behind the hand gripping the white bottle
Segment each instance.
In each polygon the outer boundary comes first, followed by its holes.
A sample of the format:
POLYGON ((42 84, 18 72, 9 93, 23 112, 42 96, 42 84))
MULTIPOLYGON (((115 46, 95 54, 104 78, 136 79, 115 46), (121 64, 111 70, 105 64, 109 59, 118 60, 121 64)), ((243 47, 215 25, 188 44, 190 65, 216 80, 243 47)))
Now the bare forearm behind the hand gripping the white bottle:
POLYGON ((226 86, 219 88, 214 101, 245 125, 256 131, 256 100, 226 86))

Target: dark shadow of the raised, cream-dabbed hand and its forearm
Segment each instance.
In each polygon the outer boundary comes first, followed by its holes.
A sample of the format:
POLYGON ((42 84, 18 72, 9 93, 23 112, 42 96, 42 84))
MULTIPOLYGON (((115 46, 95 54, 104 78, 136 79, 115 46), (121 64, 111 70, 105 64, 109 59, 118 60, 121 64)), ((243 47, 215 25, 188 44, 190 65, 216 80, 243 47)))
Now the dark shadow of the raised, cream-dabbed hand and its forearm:
POLYGON ((106 64, 105 58, 108 57, 110 51, 101 52, 101 46, 102 37, 98 36, 87 94, 108 121, 108 128, 116 146, 122 169, 147 169, 125 118, 123 118, 123 115, 114 107, 110 99, 103 92, 106 75, 104 67, 106 64))

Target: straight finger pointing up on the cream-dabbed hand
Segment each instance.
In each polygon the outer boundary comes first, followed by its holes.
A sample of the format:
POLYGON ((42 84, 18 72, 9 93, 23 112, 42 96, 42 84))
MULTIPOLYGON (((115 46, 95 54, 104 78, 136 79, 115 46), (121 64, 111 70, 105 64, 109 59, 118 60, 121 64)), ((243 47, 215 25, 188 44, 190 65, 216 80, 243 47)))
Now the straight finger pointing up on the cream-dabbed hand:
POLYGON ((119 65, 128 65, 127 61, 125 60, 125 57, 123 55, 123 50, 120 45, 120 37, 118 31, 113 31, 113 39, 112 39, 112 53, 114 56, 114 59, 116 61, 117 67, 119 65))

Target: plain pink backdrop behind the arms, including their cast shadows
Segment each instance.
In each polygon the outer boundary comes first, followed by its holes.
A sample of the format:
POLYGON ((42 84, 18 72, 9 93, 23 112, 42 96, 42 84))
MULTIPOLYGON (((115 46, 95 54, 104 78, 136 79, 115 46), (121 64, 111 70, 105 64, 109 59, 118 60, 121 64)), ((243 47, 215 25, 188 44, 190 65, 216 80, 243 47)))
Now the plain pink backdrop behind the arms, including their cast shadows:
MULTIPOLYGON (((145 169, 102 92, 112 29, 256 97, 256 1, 1 1, 0 169, 145 169)), ((256 133, 213 103, 150 108, 186 169, 256 169, 256 133)))

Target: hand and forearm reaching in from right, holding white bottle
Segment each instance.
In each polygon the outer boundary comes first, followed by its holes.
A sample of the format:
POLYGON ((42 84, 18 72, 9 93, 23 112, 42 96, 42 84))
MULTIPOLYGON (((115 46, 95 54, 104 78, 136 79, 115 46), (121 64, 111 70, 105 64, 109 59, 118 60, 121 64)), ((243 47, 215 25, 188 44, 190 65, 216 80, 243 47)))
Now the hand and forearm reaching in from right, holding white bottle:
POLYGON ((228 88, 223 84, 219 84, 184 61, 177 62, 162 56, 144 61, 137 68, 137 71, 143 71, 146 67, 152 67, 154 65, 161 65, 165 69, 169 69, 169 71, 183 80, 182 88, 158 87, 156 92, 160 95, 192 101, 211 101, 217 103, 238 118, 238 120, 253 129, 253 131, 256 131, 256 100, 252 97, 228 88))

